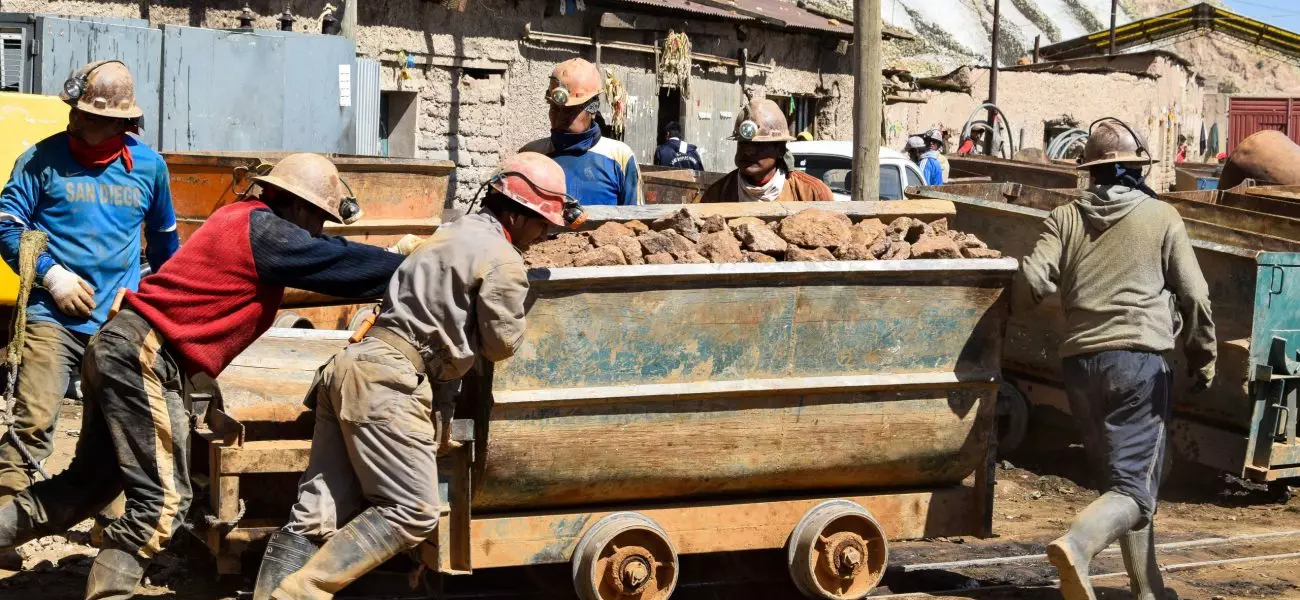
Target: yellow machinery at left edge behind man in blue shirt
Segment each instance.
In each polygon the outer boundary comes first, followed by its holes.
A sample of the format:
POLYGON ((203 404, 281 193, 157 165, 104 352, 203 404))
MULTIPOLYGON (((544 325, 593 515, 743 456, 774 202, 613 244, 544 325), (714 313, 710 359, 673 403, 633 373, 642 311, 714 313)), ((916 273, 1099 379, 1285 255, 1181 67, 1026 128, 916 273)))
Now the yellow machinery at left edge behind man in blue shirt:
MULTIPOLYGON (((13 164, 32 144, 68 129, 68 105, 56 96, 0 92, 0 173, 9 181, 13 164)), ((18 275, 0 262, 0 305, 18 297, 18 275)))

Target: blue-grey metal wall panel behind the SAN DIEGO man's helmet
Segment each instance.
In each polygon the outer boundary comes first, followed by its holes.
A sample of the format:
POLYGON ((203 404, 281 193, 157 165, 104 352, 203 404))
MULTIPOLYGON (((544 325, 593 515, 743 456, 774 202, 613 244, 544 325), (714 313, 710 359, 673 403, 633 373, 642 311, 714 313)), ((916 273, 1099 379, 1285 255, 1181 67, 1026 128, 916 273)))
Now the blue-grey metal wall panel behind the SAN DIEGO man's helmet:
POLYGON ((139 19, 82 19, 38 17, 38 94, 57 95, 73 70, 92 60, 117 58, 135 78, 135 103, 144 110, 140 138, 157 148, 160 90, 162 84, 162 32, 139 19))

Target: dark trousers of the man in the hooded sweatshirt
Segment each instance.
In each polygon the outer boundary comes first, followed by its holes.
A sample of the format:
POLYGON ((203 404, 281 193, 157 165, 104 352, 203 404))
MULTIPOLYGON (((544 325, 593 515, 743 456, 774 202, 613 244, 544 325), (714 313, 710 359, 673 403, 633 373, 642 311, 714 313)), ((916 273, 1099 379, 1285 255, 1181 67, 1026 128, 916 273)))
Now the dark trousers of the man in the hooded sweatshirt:
POLYGON ((1154 352, 1106 351, 1065 358, 1066 396, 1101 491, 1156 514, 1173 374, 1154 352))

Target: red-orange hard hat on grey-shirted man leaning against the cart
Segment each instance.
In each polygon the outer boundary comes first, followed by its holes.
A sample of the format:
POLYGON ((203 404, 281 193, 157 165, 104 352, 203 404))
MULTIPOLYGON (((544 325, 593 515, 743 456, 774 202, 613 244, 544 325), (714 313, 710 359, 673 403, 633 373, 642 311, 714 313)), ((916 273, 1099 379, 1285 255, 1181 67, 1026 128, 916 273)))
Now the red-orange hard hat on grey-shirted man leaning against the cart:
POLYGON ((586 221, 586 212, 567 192, 564 169, 546 155, 520 152, 506 158, 488 184, 556 226, 572 229, 586 221))

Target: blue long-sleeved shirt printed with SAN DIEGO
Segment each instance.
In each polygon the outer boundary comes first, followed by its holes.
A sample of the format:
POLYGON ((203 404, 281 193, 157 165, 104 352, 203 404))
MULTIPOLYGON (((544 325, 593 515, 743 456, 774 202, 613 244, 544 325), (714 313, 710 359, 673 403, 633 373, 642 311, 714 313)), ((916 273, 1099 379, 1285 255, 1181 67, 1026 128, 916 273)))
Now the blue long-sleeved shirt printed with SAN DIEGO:
POLYGON ((103 168, 81 166, 73 158, 66 132, 38 142, 14 162, 9 183, 0 192, 0 255, 17 273, 22 231, 36 229, 49 236, 46 253, 36 261, 27 319, 53 321, 75 332, 94 334, 108 319, 117 290, 135 290, 140 283, 140 227, 155 270, 176 252, 166 162, 139 139, 126 139, 134 161, 130 173, 121 158, 103 168), (64 314, 49 292, 39 287, 56 264, 95 288, 90 318, 64 314))

